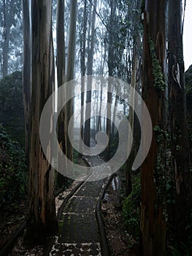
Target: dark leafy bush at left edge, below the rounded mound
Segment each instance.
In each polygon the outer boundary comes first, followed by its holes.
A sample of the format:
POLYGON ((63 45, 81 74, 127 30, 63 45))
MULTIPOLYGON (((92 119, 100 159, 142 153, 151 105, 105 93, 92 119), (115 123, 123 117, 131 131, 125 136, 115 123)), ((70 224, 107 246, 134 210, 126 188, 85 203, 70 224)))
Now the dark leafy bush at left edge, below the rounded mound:
POLYGON ((26 196, 26 159, 0 124, 0 208, 16 208, 26 196))

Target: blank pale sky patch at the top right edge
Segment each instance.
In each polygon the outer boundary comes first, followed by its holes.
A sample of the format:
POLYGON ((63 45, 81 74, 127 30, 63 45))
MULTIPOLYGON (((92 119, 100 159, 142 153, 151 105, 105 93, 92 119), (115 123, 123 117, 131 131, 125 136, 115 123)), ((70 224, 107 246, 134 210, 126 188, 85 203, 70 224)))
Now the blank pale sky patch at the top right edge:
POLYGON ((192 0, 187 0, 183 33, 185 70, 192 64, 192 0))

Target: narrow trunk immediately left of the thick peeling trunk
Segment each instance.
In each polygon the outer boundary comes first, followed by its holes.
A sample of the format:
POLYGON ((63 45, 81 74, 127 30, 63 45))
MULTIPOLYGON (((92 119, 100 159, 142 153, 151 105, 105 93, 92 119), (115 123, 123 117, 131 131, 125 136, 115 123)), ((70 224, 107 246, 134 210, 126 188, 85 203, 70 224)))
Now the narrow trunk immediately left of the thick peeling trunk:
POLYGON ((31 108, 31 30, 29 0, 23 0, 23 106, 26 128, 26 158, 29 154, 31 108))

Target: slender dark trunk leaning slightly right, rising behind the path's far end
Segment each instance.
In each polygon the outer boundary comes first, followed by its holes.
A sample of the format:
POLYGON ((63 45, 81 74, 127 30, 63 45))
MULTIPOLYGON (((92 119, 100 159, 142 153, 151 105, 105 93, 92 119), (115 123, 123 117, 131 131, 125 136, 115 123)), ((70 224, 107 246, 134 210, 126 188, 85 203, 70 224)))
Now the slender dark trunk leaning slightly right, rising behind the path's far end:
MULTIPOLYGON (((92 14, 92 23, 91 23, 91 39, 88 43, 88 87, 86 91, 86 109, 85 109, 85 130, 84 130, 84 142, 86 146, 90 146, 91 138, 91 88, 92 88, 92 77, 93 75, 93 53, 95 45, 95 25, 96 25, 96 2, 93 2, 93 14, 92 14)), ((89 39, 88 39, 89 40, 89 39)))

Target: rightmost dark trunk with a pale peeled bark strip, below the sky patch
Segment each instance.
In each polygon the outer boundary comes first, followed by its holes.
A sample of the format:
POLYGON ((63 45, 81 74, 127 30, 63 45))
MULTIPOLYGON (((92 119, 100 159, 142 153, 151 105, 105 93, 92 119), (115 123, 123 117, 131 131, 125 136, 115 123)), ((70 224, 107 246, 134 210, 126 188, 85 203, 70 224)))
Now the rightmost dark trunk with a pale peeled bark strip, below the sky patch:
POLYGON ((177 238, 185 234, 191 209, 190 150, 186 124, 183 63, 182 1, 169 0, 169 128, 172 179, 175 184, 174 227, 177 238))

